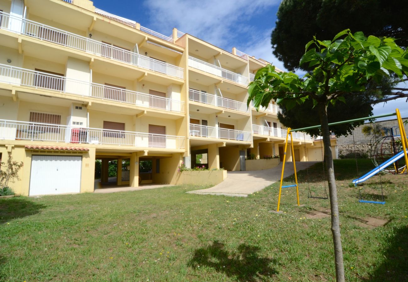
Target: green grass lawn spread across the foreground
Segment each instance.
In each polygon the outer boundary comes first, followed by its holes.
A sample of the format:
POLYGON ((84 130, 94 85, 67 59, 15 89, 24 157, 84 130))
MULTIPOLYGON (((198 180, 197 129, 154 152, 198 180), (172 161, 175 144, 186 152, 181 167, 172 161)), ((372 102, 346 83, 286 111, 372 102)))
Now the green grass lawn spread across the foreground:
MULTIPOLYGON (((360 160, 359 174, 372 167, 360 160)), ((408 177, 381 176, 386 205, 361 204, 355 161, 336 160, 335 172, 346 279, 407 280, 408 177)), ((299 173, 305 206, 287 188, 284 214, 270 212, 279 183, 247 198, 186 194, 203 188, 190 185, 2 199, 0 280, 333 281, 329 202, 307 198, 308 176, 322 193, 317 163, 299 173)), ((375 176, 361 188, 373 197, 378 187, 375 176)))

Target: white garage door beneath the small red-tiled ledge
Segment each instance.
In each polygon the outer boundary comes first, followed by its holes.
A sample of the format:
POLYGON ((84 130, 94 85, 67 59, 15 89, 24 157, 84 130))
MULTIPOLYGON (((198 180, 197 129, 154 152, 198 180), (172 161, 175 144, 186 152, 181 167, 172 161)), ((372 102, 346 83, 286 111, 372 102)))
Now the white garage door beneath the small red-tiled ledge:
POLYGON ((82 156, 31 158, 30 196, 79 193, 82 156))

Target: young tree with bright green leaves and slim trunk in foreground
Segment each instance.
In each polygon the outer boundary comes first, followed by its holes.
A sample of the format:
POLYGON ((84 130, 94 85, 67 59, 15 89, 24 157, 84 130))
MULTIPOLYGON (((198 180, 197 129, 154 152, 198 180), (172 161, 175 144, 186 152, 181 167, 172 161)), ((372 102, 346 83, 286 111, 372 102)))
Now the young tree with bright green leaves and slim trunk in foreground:
MULTIPOLYGON (((271 99, 288 110, 295 105, 311 101, 317 108, 324 144, 324 158, 328 172, 331 231, 335 252, 337 281, 344 281, 343 251, 341 248, 339 207, 333 168, 328 127, 328 105, 346 102, 345 95, 360 95, 372 82, 380 83, 383 77, 397 75, 404 79, 408 73, 408 51, 397 46, 389 37, 365 37, 359 31, 349 29, 338 33, 333 40, 313 40, 306 44, 306 52, 299 64, 306 64, 313 71, 302 79, 294 73, 278 73, 268 65, 255 74, 248 87, 251 100, 257 110, 267 106, 271 99)), ((368 94, 367 94, 368 95, 368 94)), ((313 126, 311 124, 310 126, 313 126)))

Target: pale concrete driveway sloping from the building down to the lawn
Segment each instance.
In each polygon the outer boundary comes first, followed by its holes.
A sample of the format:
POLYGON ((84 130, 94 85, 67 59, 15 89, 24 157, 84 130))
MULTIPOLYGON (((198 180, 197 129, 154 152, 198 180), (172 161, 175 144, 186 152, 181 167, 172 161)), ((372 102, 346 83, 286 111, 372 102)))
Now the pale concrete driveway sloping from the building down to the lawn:
MULTIPOLYGON (((296 171, 304 170, 315 163, 317 162, 297 162, 296 171)), ((286 162, 284 177, 292 175, 293 172, 293 162, 286 162)), ((268 170, 227 172, 227 178, 222 183, 208 189, 194 190, 187 193, 246 197, 280 181, 281 173, 282 163, 268 170)))

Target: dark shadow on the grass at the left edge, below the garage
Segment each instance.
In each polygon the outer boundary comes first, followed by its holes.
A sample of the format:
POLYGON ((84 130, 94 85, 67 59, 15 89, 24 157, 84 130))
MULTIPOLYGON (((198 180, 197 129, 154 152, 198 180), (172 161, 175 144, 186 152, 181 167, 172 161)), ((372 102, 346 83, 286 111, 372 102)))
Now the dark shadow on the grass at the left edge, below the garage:
POLYGON ((6 223, 15 218, 38 214, 46 206, 34 203, 24 197, 13 197, 0 200, 0 223, 6 223))

